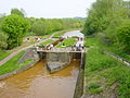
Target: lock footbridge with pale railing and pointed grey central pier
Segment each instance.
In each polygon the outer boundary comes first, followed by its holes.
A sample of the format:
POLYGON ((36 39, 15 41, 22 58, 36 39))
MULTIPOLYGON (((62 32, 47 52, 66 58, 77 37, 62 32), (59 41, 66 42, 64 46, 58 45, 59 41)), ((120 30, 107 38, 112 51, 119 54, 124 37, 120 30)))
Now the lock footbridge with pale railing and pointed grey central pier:
POLYGON ((84 66, 87 48, 65 47, 65 48, 37 48, 40 59, 47 60, 48 70, 53 73, 69 65, 73 59, 80 60, 80 66, 84 66))

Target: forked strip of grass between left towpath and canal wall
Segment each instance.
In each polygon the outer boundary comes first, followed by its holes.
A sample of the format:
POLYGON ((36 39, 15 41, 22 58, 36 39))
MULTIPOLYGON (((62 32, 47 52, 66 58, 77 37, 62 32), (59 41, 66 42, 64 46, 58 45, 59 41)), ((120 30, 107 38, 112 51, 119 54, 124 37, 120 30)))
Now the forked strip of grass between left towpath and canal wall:
POLYGON ((22 56, 25 53, 25 51, 20 52, 17 56, 13 57, 11 60, 9 60, 6 63, 0 66, 0 75, 13 72, 14 70, 20 69, 23 65, 29 64, 34 60, 27 60, 25 62, 22 62, 17 64, 17 61, 22 58, 22 56))

